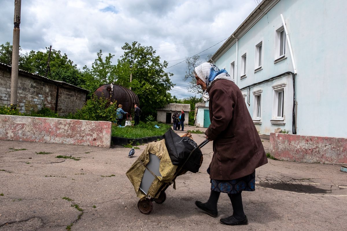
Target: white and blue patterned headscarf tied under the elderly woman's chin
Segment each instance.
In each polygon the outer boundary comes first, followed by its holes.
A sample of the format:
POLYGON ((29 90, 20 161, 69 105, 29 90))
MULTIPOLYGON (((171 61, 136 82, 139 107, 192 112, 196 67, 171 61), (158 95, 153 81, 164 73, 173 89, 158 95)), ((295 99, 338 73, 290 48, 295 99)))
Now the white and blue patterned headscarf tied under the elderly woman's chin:
MULTIPOLYGON (((212 63, 202 63, 198 65, 194 69, 194 71, 197 77, 199 77, 204 83, 206 83, 207 88, 216 79, 226 79, 234 82, 234 80, 231 79, 230 75, 225 69, 219 70, 219 68, 212 63)), ((206 91, 204 91, 202 98, 206 102, 210 99, 210 96, 206 91)))

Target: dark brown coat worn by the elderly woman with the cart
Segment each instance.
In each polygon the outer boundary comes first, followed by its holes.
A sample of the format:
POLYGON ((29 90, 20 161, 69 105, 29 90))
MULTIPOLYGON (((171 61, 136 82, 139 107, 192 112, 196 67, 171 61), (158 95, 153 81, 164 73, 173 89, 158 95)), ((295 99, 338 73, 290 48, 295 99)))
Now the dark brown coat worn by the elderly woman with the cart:
POLYGON ((217 79, 207 92, 211 125, 205 134, 213 140, 210 178, 237 179, 265 165, 268 159, 241 90, 232 81, 217 79))

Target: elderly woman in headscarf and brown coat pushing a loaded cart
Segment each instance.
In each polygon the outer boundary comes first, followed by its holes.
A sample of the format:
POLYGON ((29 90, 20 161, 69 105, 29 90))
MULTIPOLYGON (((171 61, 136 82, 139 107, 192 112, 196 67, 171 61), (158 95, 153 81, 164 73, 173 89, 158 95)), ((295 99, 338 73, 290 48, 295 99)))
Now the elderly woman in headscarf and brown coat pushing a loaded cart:
POLYGON ((196 201, 198 208, 217 217, 220 193, 227 193, 233 213, 220 219, 226 225, 248 224, 243 210, 242 191, 255 190, 255 169, 268 162, 259 134, 249 115, 241 90, 226 70, 211 63, 195 68, 196 84, 210 100, 211 124, 206 139, 213 140, 213 156, 207 169, 211 178, 211 194, 206 203, 196 201))

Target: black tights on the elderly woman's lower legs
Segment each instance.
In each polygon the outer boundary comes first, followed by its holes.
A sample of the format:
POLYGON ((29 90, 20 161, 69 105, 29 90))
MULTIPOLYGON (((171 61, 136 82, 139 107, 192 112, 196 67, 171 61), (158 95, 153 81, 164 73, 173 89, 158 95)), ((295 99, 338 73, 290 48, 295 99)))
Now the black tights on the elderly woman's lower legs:
MULTIPOLYGON (((245 212, 243 211, 243 204, 242 204, 242 192, 230 194, 228 193, 228 196, 231 201, 232 205, 232 216, 234 216, 237 220, 243 220, 245 218, 245 212)), ((205 203, 208 208, 211 210, 217 210, 217 202, 219 199, 220 192, 211 190, 210 198, 205 203)))

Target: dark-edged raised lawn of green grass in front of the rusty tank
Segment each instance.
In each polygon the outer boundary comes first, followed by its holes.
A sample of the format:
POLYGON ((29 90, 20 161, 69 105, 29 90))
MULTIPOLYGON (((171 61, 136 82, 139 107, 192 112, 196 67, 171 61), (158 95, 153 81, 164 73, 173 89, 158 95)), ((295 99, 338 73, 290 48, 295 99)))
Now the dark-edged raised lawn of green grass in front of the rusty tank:
POLYGON ((117 127, 112 125, 112 136, 124 137, 124 138, 142 138, 149 136, 161 136, 166 133, 171 126, 169 124, 162 124, 159 122, 140 122, 136 126, 117 127), (160 128, 155 128, 154 125, 158 125, 160 128))

